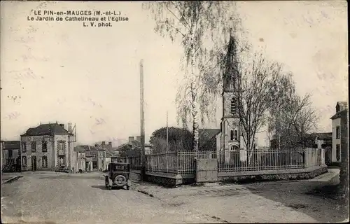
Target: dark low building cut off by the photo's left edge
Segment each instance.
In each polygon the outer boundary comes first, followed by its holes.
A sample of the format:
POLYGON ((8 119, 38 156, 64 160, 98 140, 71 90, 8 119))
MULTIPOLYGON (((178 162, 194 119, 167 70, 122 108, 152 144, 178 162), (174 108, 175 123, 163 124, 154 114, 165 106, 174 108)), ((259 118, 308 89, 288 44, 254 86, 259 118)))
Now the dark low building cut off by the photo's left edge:
POLYGON ((1 141, 3 172, 20 172, 20 141, 1 141))

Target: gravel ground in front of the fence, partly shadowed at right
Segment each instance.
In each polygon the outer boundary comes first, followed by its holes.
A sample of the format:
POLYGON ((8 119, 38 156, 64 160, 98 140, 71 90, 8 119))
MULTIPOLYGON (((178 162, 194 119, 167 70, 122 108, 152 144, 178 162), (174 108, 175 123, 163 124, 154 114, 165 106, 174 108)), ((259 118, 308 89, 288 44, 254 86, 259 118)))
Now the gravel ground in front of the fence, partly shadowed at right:
MULTIPOLYGON (((335 181, 336 182, 336 181, 335 181)), ((321 181, 276 181, 245 185, 139 189, 176 207, 226 223, 333 223, 349 218, 339 200, 314 194, 321 181)))

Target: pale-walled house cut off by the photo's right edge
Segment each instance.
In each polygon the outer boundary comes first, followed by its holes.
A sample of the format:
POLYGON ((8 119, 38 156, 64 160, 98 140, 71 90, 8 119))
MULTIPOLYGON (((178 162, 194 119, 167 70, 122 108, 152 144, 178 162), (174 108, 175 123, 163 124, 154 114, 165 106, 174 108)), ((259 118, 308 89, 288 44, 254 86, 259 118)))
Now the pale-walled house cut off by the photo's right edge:
MULTIPOLYGON (((332 120, 332 153, 331 161, 332 163, 339 164, 341 162, 341 141, 342 138, 347 139, 346 136, 342 136, 341 130, 347 127, 347 123, 342 123, 342 117, 347 116, 348 113, 348 103, 347 102, 337 102, 335 106, 335 115, 330 118, 332 120)), ((344 119, 344 118, 343 118, 344 119)), ((346 149, 344 149, 346 150, 346 149)))

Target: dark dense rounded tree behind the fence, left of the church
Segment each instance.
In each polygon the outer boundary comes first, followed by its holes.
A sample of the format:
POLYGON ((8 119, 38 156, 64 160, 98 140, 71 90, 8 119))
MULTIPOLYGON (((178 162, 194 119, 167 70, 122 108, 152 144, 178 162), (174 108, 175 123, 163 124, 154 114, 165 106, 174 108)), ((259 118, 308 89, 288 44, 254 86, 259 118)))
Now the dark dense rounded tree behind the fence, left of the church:
POLYGON ((153 132, 150 143, 153 146, 153 153, 165 153, 176 151, 191 151, 193 149, 193 134, 188 130, 179 127, 168 128, 167 148, 167 127, 162 127, 153 132))

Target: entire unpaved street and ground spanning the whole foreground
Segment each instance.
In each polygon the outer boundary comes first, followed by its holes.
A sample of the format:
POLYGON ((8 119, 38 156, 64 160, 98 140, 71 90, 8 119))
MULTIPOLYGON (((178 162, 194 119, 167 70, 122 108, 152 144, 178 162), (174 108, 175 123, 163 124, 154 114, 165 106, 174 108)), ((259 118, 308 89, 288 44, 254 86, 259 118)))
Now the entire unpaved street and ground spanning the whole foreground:
POLYGON ((55 223, 302 223, 344 220, 339 202, 309 194, 322 181, 106 190, 101 174, 21 174, 1 188, 3 221, 55 223), (143 192, 143 193, 141 193, 143 192))

